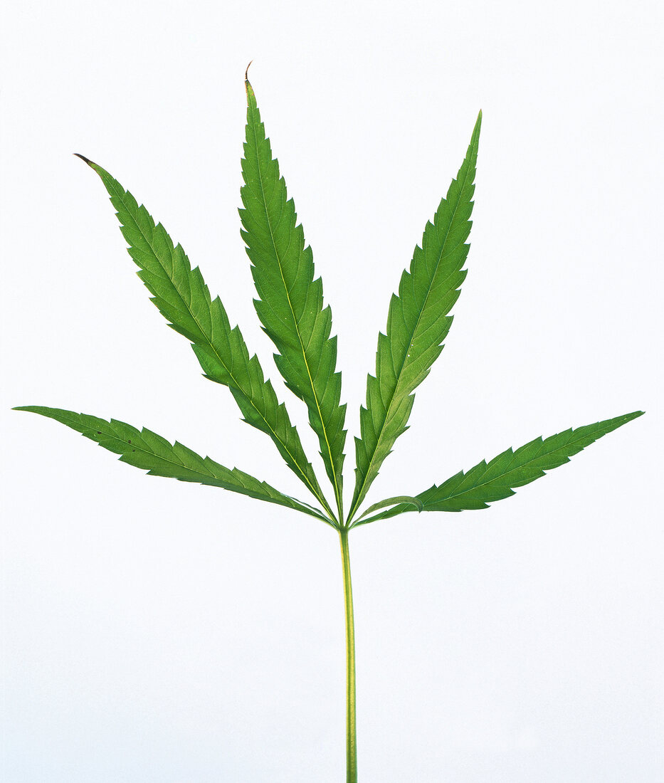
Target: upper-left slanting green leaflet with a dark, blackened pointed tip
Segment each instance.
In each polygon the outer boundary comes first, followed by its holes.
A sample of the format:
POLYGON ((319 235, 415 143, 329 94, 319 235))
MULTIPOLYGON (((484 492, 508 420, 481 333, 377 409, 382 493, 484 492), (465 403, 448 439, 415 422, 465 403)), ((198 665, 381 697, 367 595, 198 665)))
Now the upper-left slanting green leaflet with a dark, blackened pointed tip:
POLYGON ((258 357, 250 359, 240 327, 231 329, 221 300, 211 299, 200 269, 191 269, 182 246, 173 246, 164 226, 155 226, 146 208, 139 207, 120 182, 88 158, 78 157, 106 186, 128 253, 168 325, 191 341, 205 376, 229 387, 244 420, 272 438, 288 467, 331 515, 286 408, 276 399, 271 382, 265 381, 258 357))

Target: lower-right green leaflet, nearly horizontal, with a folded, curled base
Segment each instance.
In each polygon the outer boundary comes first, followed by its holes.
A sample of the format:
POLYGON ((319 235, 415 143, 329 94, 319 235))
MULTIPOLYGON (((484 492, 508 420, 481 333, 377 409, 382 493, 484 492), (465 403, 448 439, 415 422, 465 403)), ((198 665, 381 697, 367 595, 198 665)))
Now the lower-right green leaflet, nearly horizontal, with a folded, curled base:
MULTIPOLYGON (((568 429, 558 435, 551 435, 545 440, 541 437, 535 438, 516 451, 512 449, 503 451, 488 464, 482 460, 467 473, 459 471, 441 485, 433 485, 420 493, 417 499, 422 503, 423 511, 467 511, 488 508, 487 503, 514 495, 514 487, 534 482, 536 478, 541 478, 545 471, 569 462, 570 456, 578 454, 608 432, 622 427, 622 424, 643 416, 643 413, 642 410, 636 410, 615 419, 586 424, 585 427, 576 430, 568 429)), ((394 517, 404 511, 413 511, 413 507, 401 503, 382 514, 355 524, 366 525, 367 522, 394 517)))

